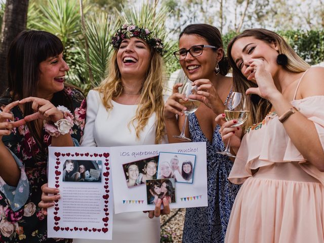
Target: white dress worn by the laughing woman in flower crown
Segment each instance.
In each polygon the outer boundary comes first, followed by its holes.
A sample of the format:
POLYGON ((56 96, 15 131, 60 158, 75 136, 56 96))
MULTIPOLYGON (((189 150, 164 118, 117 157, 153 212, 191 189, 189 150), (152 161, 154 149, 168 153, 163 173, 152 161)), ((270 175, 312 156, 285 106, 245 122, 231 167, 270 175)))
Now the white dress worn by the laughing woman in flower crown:
MULTIPOLYGON (((129 146, 154 144, 155 114, 153 114, 136 138, 135 128, 129 121, 135 116, 137 105, 123 105, 112 101, 108 112, 97 91, 90 91, 87 97, 87 119, 81 146, 129 146)), ((135 123, 136 126, 136 123, 135 123)), ((166 142, 166 141, 164 141, 166 142)), ((113 163, 113 161, 112 161, 113 163)), ((111 190, 112 193, 112 190, 111 190)), ((143 212, 113 214, 112 240, 73 239, 73 243, 94 242, 160 242, 159 218, 149 219, 143 212)))

